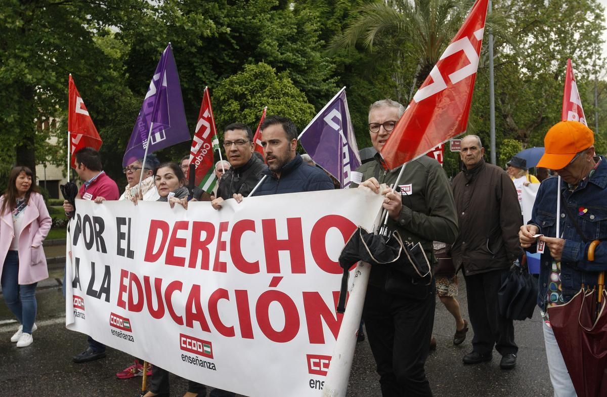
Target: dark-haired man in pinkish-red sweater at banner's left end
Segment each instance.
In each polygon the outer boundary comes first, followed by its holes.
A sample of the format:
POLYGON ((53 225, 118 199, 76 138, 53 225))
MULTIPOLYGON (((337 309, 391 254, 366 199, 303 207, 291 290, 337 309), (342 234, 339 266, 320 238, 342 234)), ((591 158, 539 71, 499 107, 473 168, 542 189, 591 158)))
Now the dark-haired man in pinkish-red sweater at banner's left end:
MULTIPOLYGON (((120 193, 118 185, 108 177, 101 166, 101 156, 93 148, 82 148, 76 152, 76 174, 84 181, 80 186, 76 198, 83 200, 94 200, 101 203, 104 200, 118 200, 120 193)), ((73 213, 73 206, 65 200, 63 209, 67 213, 73 213)), ((88 337, 89 345, 82 353, 73 356, 74 362, 92 361, 106 356, 106 345, 88 337)))

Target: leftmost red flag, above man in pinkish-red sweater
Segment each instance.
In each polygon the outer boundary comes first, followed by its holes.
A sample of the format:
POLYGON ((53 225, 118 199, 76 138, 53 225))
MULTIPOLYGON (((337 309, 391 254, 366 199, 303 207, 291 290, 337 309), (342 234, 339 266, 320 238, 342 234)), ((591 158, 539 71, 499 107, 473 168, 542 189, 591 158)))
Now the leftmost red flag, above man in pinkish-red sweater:
POLYGON ((67 109, 67 138, 70 140, 70 165, 75 168, 74 153, 82 148, 89 147, 95 150, 101 148, 101 137, 90 118, 89 111, 86 110, 84 102, 76 84, 69 77, 69 101, 67 109))

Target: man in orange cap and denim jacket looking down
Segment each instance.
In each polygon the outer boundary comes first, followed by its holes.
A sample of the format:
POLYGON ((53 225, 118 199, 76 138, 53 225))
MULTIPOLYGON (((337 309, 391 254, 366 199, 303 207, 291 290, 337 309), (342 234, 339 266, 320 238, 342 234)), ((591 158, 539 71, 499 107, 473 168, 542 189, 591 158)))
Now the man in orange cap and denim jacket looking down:
POLYGON ((555 397, 574 397, 547 308, 565 304, 582 285, 597 285, 599 272, 607 270, 605 243, 596 247, 594 262, 588 260, 592 240, 607 240, 607 161, 595 155, 594 134, 578 121, 555 124, 544 138, 544 148, 537 166, 554 169, 560 178, 542 182, 531 220, 521 226, 518 236, 527 251, 535 251, 537 240, 546 245, 541 254, 537 303, 544 320, 548 368, 555 397), (560 236, 556 236, 557 221, 560 236), (538 234, 543 236, 535 237, 538 234))

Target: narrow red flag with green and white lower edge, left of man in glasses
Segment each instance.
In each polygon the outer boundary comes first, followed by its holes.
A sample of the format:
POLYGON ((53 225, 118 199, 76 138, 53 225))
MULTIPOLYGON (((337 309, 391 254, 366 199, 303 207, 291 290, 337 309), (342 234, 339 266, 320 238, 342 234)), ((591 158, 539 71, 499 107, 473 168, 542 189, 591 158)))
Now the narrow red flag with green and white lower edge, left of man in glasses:
POLYGON ((190 149, 190 164, 193 163, 196 166, 196 186, 206 192, 211 192, 217 182, 213 155, 215 150, 219 150, 219 140, 217 140, 217 128, 211 107, 209 87, 205 87, 190 149))

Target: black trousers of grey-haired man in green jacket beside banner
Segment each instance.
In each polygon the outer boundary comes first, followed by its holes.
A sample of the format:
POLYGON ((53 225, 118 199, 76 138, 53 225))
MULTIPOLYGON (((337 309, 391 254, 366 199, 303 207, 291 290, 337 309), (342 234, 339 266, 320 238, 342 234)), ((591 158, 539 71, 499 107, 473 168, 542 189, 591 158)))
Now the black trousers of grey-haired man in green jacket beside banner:
POLYGON ((435 285, 415 299, 369 285, 363 308, 383 397, 431 397, 424 365, 434 325, 435 285))

